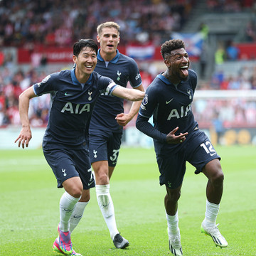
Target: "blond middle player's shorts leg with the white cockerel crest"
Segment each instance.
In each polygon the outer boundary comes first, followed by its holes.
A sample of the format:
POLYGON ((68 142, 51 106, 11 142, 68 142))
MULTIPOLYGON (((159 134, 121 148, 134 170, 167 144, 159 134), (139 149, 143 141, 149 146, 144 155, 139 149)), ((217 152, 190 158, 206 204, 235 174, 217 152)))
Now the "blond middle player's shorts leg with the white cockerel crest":
POLYGON ((100 132, 98 134, 90 134, 89 151, 90 161, 107 161, 107 141, 108 135, 100 132))

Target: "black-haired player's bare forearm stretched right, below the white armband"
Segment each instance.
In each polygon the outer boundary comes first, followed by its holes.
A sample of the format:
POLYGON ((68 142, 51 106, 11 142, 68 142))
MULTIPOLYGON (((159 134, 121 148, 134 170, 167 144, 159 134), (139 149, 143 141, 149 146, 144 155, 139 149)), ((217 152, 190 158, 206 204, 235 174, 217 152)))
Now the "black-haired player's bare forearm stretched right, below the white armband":
POLYGON ((122 87, 120 85, 117 85, 117 87, 115 87, 112 92, 112 95, 114 96, 121 97, 125 100, 131 100, 131 101, 143 100, 144 94, 145 93, 140 90, 133 90, 133 89, 122 87))

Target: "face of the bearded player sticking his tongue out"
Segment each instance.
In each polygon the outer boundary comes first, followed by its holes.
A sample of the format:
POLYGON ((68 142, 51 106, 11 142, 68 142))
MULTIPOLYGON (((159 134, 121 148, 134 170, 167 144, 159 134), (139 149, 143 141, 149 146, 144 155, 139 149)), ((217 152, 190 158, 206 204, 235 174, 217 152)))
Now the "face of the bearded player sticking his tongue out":
POLYGON ((184 48, 171 50, 171 53, 166 56, 164 63, 168 68, 171 82, 177 83, 188 78, 189 58, 184 48))

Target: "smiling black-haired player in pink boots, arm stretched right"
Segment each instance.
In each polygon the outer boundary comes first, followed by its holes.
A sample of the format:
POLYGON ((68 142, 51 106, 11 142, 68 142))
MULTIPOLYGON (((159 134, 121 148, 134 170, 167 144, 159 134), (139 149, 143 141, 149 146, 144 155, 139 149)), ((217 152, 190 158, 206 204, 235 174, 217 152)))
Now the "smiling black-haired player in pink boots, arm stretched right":
POLYGON ((29 100, 50 93, 50 117, 43 137, 43 154, 53 169, 60 198, 58 238, 53 250, 65 255, 80 255, 73 250, 70 238, 70 217, 75 206, 87 205, 90 188, 95 186, 88 151, 88 129, 93 107, 102 92, 127 100, 142 100, 144 92, 116 85, 110 78, 93 70, 97 64, 97 43, 81 39, 73 46, 73 70, 48 75, 21 93, 19 112, 22 129, 15 142, 28 146, 31 129, 28 119, 29 100), (80 200, 80 205, 78 201, 80 200))

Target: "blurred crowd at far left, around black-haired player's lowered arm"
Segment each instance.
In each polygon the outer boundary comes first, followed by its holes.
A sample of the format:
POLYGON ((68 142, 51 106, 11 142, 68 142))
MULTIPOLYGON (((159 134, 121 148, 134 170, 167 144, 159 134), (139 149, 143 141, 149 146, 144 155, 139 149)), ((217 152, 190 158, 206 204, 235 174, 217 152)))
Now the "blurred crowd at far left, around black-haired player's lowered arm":
MULTIPOLYGON (((46 74, 38 73, 35 69, 24 73, 19 70, 11 73, 8 67, 0 69, 0 127, 9 124, 20 125, 18 114, 18 96, 31 85, 40 82, 46 74)), ((29 118, 33 127, 44 126, 48 122, 49 95, 36 97, 31 100, 29 118)))

